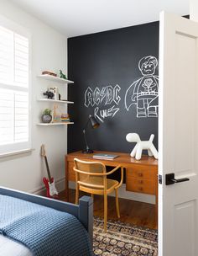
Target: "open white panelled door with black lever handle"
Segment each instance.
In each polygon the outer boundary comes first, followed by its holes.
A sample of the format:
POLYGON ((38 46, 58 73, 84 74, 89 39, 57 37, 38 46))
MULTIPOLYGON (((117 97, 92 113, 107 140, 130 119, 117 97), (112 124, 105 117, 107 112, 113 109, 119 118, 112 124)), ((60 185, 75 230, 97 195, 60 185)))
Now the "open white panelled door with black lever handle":
POLYGON ((159 256, 198 256, 198 23, 161 13, 159 34, 159 256))

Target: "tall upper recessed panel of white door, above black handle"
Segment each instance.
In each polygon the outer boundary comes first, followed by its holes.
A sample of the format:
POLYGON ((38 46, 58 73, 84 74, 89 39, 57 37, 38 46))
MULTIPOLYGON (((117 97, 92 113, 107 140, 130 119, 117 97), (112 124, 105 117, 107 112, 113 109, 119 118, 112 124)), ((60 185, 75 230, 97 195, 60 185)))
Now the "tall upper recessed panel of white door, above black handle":
POLYGON ((175 43, 175 59, 179 61, 175 68, 174 169, 175 173, 182 174, 194 169, 196 38, 176 33, 175 43), (185 157, 181 157, 183 155, 185 157))

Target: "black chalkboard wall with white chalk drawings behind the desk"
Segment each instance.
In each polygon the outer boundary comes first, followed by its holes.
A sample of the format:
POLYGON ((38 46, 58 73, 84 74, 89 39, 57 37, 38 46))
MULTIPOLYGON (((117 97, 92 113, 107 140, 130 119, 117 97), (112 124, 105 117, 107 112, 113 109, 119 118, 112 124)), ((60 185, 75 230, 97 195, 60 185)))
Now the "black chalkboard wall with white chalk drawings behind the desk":
POLYGON ((159 22, 68 39, 70 119, 68 152, 85 148, 82 129, 89 115, 101 125, 87 127, 95 150, 131 152, 125 137, 154 133, 158 147, 159 22))

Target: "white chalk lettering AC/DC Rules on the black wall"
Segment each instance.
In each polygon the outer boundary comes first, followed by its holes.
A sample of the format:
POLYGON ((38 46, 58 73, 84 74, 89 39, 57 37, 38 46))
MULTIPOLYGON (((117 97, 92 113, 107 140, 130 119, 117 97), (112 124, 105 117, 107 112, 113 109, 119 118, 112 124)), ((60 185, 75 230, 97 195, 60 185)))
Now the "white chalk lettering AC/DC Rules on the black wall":
POLYGON ((117 105, 121 100, 119 96, 120 91, 121 88, 118 84, 114 87, 108 85, 107 87, 102 87, 102 89, 96 87, 94 90, 88 87, 85 91, 84 105, 86 108, 96 106, 94 116, 103 123, 105 118, 113 117, 117 114, 117 111, 119 111, 117 105), (113 105, 110 107, 110 104, 113 105))

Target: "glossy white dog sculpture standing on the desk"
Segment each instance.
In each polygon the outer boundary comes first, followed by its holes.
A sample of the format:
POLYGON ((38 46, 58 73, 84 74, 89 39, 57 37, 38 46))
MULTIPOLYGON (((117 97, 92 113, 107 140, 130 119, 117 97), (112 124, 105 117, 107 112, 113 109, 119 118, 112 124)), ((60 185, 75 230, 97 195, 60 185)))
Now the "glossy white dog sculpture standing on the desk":
POLYGON ((135 157, 137 160, 141 159, 143 149, 148 150, 149 157, 155 157, 158 159, 158 152, 157 149, 154 147, 154 134, 152 134, 149 138, 149 141, 141 141, 138 133, 128 133, 126 136, 126 140, 128 142, 137 142, 133 151, 131 152, 131 157, 135 157))

